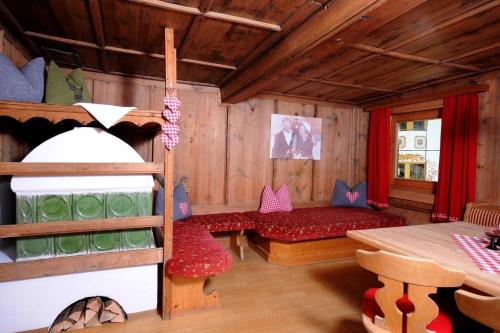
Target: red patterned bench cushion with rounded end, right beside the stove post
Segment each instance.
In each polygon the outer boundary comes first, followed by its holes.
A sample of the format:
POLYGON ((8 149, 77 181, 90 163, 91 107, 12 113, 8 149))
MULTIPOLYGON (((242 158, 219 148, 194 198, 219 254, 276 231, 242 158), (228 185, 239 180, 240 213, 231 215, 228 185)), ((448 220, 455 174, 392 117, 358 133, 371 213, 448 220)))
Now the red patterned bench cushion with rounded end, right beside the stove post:
POLYGON ((173 237, 173 255, 167 262, 168 274, 214 276, 231 267, 231 254, 203 226, 175 222, 173 237))

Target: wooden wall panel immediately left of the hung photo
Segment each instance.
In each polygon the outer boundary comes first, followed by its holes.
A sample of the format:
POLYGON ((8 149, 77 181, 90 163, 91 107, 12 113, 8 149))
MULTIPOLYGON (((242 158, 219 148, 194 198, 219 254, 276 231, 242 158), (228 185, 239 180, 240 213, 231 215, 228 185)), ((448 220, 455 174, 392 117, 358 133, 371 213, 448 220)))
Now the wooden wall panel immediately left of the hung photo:
POLYGON ((272 185, 269 134, 274 100, 229 106, 227 202, 256 203, 264 185, 272 185), (253 108, 253 111, 252 111, 253 108))

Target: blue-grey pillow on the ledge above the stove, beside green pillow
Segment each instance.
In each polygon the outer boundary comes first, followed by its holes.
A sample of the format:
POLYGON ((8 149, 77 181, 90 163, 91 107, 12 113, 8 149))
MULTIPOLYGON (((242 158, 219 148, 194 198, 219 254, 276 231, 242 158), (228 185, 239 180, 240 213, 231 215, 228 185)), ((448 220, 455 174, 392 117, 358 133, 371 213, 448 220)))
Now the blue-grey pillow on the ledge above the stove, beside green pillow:
POLYGON ((35 58, 17 67, 0 53, 0 100, 40 103, 43 98, 45 61, 35 58))

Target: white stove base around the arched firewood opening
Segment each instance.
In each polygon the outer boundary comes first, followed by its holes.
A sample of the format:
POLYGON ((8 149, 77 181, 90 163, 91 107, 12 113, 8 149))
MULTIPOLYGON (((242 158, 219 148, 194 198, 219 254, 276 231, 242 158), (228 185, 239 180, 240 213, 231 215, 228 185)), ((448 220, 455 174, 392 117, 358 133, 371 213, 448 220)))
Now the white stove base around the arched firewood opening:
POLYGON ((89 296, 117 301, 127 314, 156 309, 158 265, 0 283, 0 333, 52 324, 72 303, 89 296))

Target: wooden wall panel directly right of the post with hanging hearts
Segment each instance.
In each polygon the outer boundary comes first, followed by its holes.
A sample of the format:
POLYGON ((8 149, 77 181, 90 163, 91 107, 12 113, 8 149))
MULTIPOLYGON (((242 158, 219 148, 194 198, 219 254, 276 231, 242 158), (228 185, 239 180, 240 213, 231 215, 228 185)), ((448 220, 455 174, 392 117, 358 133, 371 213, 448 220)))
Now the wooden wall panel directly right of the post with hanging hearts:
POLYGON ((175 148, 175 179, 193 204, 225 202, 227 110, 218 94, 179 90, 182 116, 175 148))

